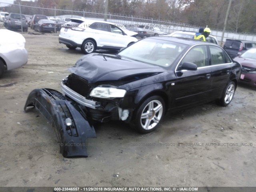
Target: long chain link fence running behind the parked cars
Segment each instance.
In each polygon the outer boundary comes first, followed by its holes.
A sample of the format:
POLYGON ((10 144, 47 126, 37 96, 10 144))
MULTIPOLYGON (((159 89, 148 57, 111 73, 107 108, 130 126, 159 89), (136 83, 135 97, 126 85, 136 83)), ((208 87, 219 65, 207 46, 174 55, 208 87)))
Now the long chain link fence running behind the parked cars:
MULTIPOLYGON (((5 2, 0 2, 5 3, 5 2)), ((8 4, 8 3, 5 3, 8 4)), ((160 28, 163 32, 170 34, 177 30, 185 30, 197 32, 198 29, 202 26, 191 26, 189 24, 166 21, 166 20, 154 20, 153 18, 138 18, 130 15, 118 15, 118 14, 103 14, 103 13, 94 13, 94 12, 86 12, 85 10, 62 10, 56 8, 45 8, 45 7, 34 7, 28 5, 17 5, 17 4, 9 4, 10 11, 14 13, 21 13, 25 15, 33 15, 33 14, 42 14, 46 16, 52 17, 77 17, 77 18, 85 18, 92 20, 106 20, 108 22, 113 22, 118 24, 119 26, 129 27, 129 26, 154 26, 160 28)), ((205 27, 205 26, 204 26, 205 27)), ((209 26, 210 27, 210 26, 209 26)), ((211 29, 211 34, 216 36, 217 40, 220 42, 222 31, 211 29)), ((248 40, 248 41, 256 41, 255 34, 248 33, 234 33, 226 31, 224 33, 224 41, 226 39, 240 39, 240 40, 248 40)))

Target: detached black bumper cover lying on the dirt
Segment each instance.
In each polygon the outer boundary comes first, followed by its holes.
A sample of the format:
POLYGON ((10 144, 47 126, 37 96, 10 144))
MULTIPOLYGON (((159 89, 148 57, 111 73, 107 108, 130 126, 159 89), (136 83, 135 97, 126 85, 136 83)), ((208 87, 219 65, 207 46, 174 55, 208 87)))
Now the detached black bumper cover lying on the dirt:
POLYGON ((86 138, 96 138, 96 133, 79 104, 56 90, 43 88, 29 94, 24 110, 28 111, 30 106, 35 106, 52 124, 64 157, 88 157, 86 138), (66 119, 72 122, 70 126, 66 119))

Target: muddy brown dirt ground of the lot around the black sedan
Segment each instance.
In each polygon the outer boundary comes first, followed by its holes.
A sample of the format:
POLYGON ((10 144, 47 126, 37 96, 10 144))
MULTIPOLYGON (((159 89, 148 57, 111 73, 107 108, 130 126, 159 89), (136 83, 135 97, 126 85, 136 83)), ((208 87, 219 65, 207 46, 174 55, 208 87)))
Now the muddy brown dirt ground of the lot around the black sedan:
POLYGON ((0 79, 0 186, 256 186, 254 88, 239 85, 226 108, 168 112, 146 135, 123 122, 97 124, 89 157, 63 158, 50 124, 23 108, 34 88, 60 91, 83 54, 59 44, 58 34, 24 37, 28 64, 0 79))

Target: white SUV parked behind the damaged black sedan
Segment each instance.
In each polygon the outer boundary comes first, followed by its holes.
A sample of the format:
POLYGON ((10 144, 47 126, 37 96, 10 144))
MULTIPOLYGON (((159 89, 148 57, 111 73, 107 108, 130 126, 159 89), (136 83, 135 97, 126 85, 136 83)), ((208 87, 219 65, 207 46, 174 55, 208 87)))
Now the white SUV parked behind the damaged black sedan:
POLYGON ((114 23, 71 18, 62 25, 59 43, 70 49, 80 47, 84 54, 89 54, 96 49, 120 50, 138 41, 129 35, 114 23))

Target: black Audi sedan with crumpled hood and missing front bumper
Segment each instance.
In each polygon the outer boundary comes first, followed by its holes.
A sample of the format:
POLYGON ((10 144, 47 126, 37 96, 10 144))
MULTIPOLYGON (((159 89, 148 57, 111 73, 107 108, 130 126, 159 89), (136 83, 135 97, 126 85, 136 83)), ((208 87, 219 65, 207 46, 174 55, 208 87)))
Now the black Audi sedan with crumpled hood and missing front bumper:
POLYGON ((218 45, 187 38, 142 39, 116 55, 80 58, 62 81, 64 94, 89 118, 123 120, 152 132, 168 109, 219 100, 230 104, 241 74, 218 45))

